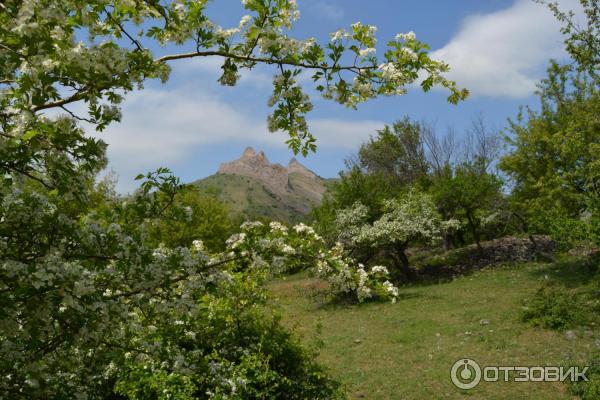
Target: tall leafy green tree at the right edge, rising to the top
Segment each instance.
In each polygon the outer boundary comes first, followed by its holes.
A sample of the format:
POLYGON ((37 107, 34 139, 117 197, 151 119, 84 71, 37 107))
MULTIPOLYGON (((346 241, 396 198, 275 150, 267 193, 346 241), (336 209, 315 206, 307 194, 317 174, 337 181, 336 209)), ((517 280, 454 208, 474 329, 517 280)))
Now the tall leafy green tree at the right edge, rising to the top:
POLYGON ((580 0, 585 20, 547 4, 563 22, 566 65, 552 61, 539 84, 540 110, 510 125, 510 153, 500 167, 513 204, 534 230, 561 240, 600 237, 600 5, 580 0), (569 239, 570 238, 570 239, 569 239))

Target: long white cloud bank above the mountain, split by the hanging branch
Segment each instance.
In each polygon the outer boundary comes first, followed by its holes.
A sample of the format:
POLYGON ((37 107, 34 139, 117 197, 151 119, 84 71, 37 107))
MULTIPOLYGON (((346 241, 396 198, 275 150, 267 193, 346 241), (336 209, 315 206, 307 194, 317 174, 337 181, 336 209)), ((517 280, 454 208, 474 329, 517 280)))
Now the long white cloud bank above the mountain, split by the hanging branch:
MULTIPOLYGON (((109 144, 109 167, 120 176, 119 190, 130 190, 139 172, 189 164, 205 146, 286 146, 285 133, 268 132, 266 114, 253 115, 197 88, 133 92, 126 96, 122 112, 121 123, 99 134, 109 144)), ((355 149, 383 127, 379 121, 318 118, 309 125, 320 148, 342 150, 355 149)))

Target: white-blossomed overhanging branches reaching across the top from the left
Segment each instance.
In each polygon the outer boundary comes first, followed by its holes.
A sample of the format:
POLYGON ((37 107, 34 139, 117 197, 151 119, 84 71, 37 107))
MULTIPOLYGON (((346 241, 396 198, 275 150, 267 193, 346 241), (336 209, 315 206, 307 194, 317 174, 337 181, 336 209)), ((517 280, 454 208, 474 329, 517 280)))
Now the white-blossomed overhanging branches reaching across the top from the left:
POLYGON ((315 149, 305 119, 312 104, 295 79, 302 70, 313 71, 323 97, 349 107, 381 95, 404 94, 418 80, 425 91, 434 85, 448 88, 452 103, 468 94, 443 77, 448 65, 432 60, 427 45, 413 32, 398 34, 378 57, 374 26, 357 22, 321 45, 314 38, 288 35, 299 17, 295 0, 242 3, 248 14, 239 26, 226 29, 208 19, 206 0, 4 2, 3 133, 23 132, 27 121, 51 108, 102 129, 119 119, 117 106, 124 92, 149 78, 166 80, 168 62, 195 57, 222 58, 219 81, 224 85, 235 85, 242 69, 273 65, 269 128, 287 131, 296 152, 315 149), (86 34, 86 41, 77 40, 86 34), (156 57, 149 49, 156 43, 195 50, 156 57), (75 116, 68 109, 81 101, 88 105, 88 116, 75 116))

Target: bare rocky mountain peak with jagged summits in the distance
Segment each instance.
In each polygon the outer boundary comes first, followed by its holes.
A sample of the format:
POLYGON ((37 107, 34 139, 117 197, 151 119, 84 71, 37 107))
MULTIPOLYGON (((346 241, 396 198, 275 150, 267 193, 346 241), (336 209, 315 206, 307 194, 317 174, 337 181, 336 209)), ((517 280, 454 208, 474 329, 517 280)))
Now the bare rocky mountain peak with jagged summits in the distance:
POLYGON ((292 222, 321 202, 326 182, 295 158, 284 167, 247 147, 237 160, 221 164, 215 175, 194 183, 216 194, 234 213, 292 222))

